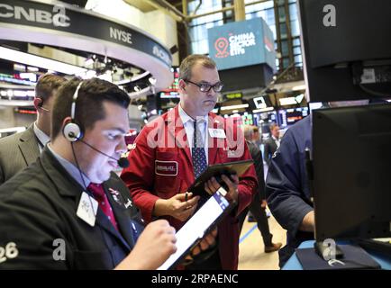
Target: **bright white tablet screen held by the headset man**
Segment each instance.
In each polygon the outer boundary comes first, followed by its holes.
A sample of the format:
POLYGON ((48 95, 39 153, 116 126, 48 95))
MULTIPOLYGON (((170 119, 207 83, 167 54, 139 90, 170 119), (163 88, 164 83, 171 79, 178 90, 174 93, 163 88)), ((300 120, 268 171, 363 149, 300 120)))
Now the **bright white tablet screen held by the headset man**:
POLYGON ((177 252, 172 254, 158 270, 167 270, 177 264, 177 261, 185 257, 188 250, 195 245, 195 242, 205 236, 205 232, 218 220, 222 219, 223 212, 232 207, 223 195, 227 192, 221 187, 208 199, 207 202, 195 212, 186 224, 177 231, 177 252))

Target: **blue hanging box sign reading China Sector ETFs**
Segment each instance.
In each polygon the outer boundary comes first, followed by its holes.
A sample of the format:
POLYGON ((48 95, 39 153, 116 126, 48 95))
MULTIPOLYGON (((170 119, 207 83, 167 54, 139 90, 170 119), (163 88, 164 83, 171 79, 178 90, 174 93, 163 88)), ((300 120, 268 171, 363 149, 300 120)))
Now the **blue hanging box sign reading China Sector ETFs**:
POLYGON ((208 29, 209 56, 221 70, 266 63, 276 70, 273 32, 262 18, 208 29))

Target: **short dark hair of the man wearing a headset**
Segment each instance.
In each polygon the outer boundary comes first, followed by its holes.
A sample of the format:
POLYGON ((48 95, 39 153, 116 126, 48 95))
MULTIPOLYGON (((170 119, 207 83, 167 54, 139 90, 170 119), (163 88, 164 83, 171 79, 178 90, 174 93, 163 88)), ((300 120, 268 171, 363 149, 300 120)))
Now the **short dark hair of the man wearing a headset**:
MULTIPOLYGON (((62 131, 62 122, 70 116, 79 78, 75 77, 59 88, 55 95, 51 116, 51 139, 56 139, 62 131)), ((95 121, 105 119, 103 103, 111 102, 127 109, 130 103, 129 95, 117 85, 108 81, 92 78, 83 80, 77 94, 74 121, 82 130, 92 128, 95 121)))

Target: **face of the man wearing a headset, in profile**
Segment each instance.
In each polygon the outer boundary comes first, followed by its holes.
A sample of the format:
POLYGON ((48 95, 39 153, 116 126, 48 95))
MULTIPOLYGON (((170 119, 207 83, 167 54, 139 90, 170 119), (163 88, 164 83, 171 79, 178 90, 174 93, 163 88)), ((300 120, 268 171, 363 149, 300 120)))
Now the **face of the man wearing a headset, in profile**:
MULTIPOLYGON (((124 134, 129 131, 128 112, 123 107, 104 102, 105 119, 96 121, 92 129, 86 130, 85 142, 105 154, 118 159, 126 152, 124 134)), ((82 171, 93 183, 102 183, 110 172, 118 167, 117 161, 77 142, 77 160, 82 171)))

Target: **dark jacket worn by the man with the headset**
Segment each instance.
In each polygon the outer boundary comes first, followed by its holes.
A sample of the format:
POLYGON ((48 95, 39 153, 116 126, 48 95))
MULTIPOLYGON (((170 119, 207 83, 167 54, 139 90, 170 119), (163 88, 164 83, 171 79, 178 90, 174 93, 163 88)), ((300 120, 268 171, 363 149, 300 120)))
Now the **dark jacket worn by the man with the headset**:
POLYGON ((95 226, 77 217, 83 188, 44 148, 41 157, 0 187, 0 247, 14 242, 19 254, 0 269, 112 269, 126 257, 142 230, 139 211, 125 208, 130 194, 114 173, 104 183, 121 234, 99 208, 95 226), (139 229, 132 229, 133 224, 139 229), (65 241, 66 259, 53 259, 55 239, 65 241))

